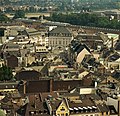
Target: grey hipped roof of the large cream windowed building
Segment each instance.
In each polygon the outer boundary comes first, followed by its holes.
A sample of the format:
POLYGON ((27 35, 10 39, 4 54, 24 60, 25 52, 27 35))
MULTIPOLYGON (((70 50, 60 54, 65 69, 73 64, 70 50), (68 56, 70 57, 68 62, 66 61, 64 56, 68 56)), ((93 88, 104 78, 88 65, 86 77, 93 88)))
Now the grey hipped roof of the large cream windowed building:
POLYGON ((71 32, 66 27, 56 27, 53 30, 51 30, 49 33, 71 34, 71 32))

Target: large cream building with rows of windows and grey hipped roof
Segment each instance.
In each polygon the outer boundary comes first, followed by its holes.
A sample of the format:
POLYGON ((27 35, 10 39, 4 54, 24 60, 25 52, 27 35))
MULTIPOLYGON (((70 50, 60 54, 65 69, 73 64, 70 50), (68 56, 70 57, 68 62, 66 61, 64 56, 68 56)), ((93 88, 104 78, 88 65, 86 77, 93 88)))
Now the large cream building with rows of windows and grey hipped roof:
POLYGON ((49 47, 52 48, 66 48, 72 39, 72 33, 65 27, 56 27, 48 33, 49 47))

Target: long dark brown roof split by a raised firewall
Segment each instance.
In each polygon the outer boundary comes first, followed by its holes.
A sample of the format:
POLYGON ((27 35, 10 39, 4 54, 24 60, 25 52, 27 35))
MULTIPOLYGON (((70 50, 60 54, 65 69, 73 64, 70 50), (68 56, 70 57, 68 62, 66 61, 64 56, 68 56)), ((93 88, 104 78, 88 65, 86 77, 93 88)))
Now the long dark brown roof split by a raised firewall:
POLYGON ((41 79, 38 81, 28 81, 26 83, 26 93, 69 90, 75 87, 79 87, 81 85, 81 80, 54 81, 41 79))

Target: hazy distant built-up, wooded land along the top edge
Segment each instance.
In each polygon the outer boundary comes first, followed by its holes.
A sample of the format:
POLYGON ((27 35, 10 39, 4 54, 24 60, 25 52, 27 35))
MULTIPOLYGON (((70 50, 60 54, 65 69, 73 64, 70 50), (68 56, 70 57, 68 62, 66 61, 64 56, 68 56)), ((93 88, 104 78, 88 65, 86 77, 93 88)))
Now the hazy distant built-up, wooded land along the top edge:
POLYGON ((5 5, 37 6, 38 9, 50 8, 52 11, 104 10, 120 9, 120 0, 0 0, 0 6, 5 5))

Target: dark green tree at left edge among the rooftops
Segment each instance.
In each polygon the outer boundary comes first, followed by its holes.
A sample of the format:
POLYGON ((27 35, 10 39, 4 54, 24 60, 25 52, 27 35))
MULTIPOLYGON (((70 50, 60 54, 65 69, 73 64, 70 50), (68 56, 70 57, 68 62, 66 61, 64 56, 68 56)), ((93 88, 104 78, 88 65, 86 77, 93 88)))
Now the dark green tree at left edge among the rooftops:
POLYGON ((11 68, 3 65, 0 68, 0 81, 9 81, 13 79, 13 74, 11 68))

